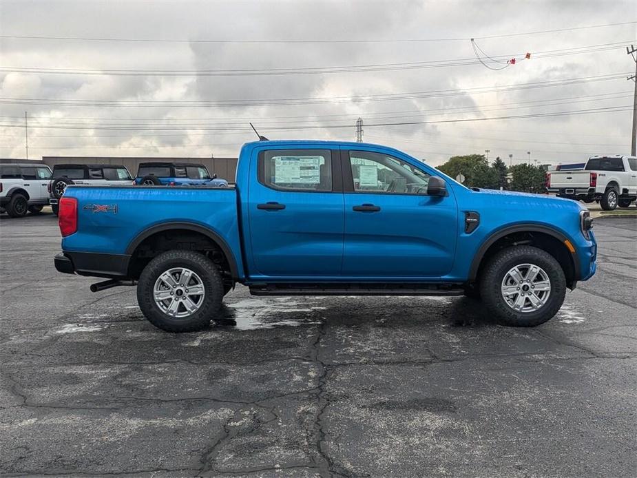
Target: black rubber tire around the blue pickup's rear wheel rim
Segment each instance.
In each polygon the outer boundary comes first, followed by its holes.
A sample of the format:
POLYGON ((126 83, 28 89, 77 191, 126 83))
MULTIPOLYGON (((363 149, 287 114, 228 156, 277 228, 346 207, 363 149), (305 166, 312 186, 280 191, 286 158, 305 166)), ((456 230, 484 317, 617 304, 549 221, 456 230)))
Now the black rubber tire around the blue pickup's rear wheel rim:
MULTIPOLYGON (((176 285, 177 296, 180 284, 176 285)), ((186 287, 187 285, 185 284, 186 287)), ((223 280, 214 262, 198 252, 174 250, 161 253, 144 268, 137 285, 137 301, 145 317, 159 329, 167 332, 194 332, 205 329, 213 320, 221 307, 223 292, 223 280), (181 267, 196 273, 201 280, 204 295, 200 299, 202 302, 197 302, 198 309, 194 313, 177 318, 160 309, 154 299, 154 287, 163 273, 181 267)), ((163 304, 168 300, 172 304, 176 299, 168 298, 163 304)), ((177 308, 180 307, 182 306, 178 304, 177 308)), ((185 307, 182 313, 185 313, 185 307)))

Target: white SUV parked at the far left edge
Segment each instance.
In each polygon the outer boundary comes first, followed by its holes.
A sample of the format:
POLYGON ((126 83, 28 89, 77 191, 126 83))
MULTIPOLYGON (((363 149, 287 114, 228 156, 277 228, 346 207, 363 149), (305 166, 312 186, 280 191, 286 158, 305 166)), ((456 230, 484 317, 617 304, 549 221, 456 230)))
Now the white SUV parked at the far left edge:
POLYGON ((0 213, 21 218, 38 214, 49 202, 51 170, 28 163, 0 165, 0 213))

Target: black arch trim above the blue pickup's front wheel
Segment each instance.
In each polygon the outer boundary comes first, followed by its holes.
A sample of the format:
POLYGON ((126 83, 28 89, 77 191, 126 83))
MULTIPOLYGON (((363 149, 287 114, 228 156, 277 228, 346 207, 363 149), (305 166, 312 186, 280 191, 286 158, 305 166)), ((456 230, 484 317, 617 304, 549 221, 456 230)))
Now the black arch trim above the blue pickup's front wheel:
POLYGON ((483 267, 486 260, 488 260, 493 253, 501 249, 502 245, 503 247, 516 245, 515 242, 508 243, 509 238, 524 235, 535 237, 539 242, 550 241, 551 250, 547 250, 547 252, 551 253, 560 263, 567 278, 568 286, 573 288, 578 280, 580 264, 577 254, 571 253, 565 245, 565 241, 569 240, 569 238, 561 233, 561 231, 557 231, 552 227, 537 224, 521 224, 505 227, 499 231, 495 231, 486 238, 478 248, 471 262, 469 282, 475 282, 477 278, 479 278, 481 267, 483 267))

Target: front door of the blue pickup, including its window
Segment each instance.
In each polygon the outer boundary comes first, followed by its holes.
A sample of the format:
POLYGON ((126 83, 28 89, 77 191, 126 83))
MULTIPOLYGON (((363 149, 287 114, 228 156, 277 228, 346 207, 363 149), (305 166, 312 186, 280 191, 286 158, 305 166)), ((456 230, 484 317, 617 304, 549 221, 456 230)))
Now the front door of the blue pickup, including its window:
POLYGON ((430 174, 388 154, 349 151, 343 160, 343 276, 417 280, 449 273, 458 228, 452 191, 428 196, 430 174))

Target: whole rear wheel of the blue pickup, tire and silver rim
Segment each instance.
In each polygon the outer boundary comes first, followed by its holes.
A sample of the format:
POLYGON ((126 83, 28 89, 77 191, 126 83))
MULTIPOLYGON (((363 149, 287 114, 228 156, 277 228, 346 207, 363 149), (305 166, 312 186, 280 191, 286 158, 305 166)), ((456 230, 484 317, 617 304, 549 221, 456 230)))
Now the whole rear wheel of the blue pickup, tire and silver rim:
POLYGON ((168 332, 200 331, 219 311, 224 287, 209 258, 193 251, 167 251, 148 263, 137 285, 145 317, 168 332))

